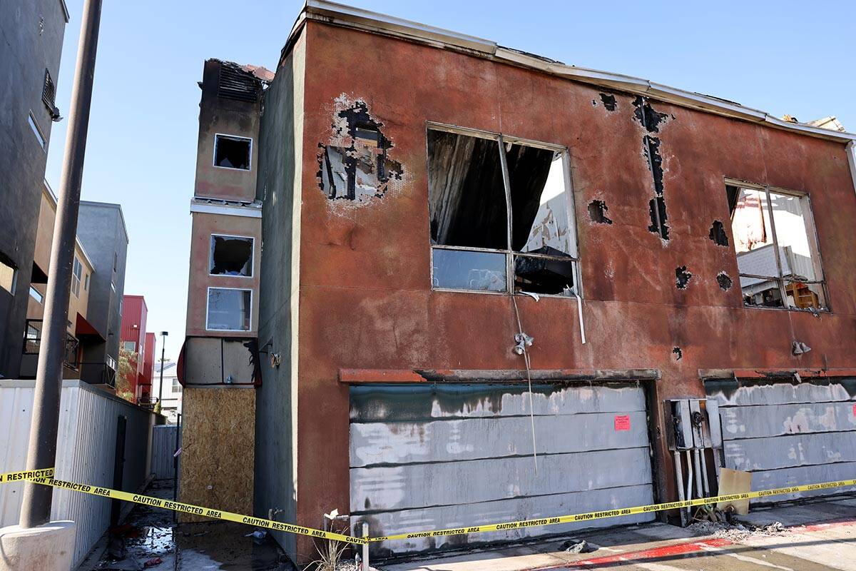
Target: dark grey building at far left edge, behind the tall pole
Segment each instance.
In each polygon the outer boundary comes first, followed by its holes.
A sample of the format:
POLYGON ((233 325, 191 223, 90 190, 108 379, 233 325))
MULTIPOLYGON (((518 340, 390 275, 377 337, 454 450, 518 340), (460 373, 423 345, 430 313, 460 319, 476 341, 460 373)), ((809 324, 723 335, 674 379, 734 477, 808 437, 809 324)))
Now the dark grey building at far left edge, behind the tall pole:
MULTIPOLYGON (((33 281, 39 202, 59 119, 56 77, 68 8, 62 0, 0 4, 0 377, 15 378, 33 281), (14 78, 12 80, 11 78, 14 78)), ((46 269, 46 268, 45 268, 46 269)), ((35 281, 38 283, 39 274, 35 281)))

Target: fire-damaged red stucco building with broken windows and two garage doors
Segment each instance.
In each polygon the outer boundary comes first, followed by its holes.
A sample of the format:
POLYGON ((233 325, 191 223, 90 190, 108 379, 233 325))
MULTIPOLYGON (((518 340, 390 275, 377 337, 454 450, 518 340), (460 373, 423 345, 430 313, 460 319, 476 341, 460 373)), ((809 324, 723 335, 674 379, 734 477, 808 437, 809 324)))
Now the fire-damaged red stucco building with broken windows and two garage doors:
POLYGON ((181 501, 383 536, 856 469, 856 135, 323 0, 201 86, 181 501))

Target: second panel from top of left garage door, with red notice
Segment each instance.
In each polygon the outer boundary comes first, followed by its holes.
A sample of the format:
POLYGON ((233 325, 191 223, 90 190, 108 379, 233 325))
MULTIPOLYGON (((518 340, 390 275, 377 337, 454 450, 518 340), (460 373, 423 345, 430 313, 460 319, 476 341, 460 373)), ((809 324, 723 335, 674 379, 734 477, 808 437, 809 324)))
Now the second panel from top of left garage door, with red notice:
MULTIPOLYGON (((630 425, 645 426, 645 411, 627 413, 630 425)), ((615 431, 615 413, 539 416, 538 454, 633 448, 648 445, 645 431, 615 431), (555 434, 574 437, 555 438, 555 434), (539 437, 540 435, 540 437, 539 437)), ((532 454, 528 416, 351 425, 351 466, 431 460, 475 460, 532 454)))

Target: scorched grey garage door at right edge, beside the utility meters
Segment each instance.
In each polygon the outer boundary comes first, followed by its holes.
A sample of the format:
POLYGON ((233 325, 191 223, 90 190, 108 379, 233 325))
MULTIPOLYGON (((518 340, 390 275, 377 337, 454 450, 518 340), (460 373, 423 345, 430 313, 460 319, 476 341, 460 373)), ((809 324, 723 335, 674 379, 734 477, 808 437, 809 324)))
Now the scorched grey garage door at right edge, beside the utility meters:
MULTIPOLYGON (((719 402, 725 466, 752 472, 752 490, 853 478, 854 381, 708 381, 708 395, 719 402)), ((770 500, 783 502, 849 490, 853 488, 801 492, 770 500)))

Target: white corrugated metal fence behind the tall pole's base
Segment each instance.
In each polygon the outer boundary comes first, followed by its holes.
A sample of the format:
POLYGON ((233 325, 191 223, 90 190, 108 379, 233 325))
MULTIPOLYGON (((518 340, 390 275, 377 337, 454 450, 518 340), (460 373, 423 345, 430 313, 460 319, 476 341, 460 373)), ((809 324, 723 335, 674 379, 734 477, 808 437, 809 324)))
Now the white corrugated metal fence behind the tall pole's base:
MULTIPOLYGON (((26 467, 34 386, 35 381, 0 380, 0 472, 26 467)), ((78 380, 62 381, 56 479, 112 488, 119 416, 128 419, 122 489, 140 488, 151 471, 157 415, 78 380)), ((0 526, 18 523, 23 488, 0 485, 0 526)), ((110 526, 110 499, 55 489, 51 519, 77 523, 76 566, 110 526)))

